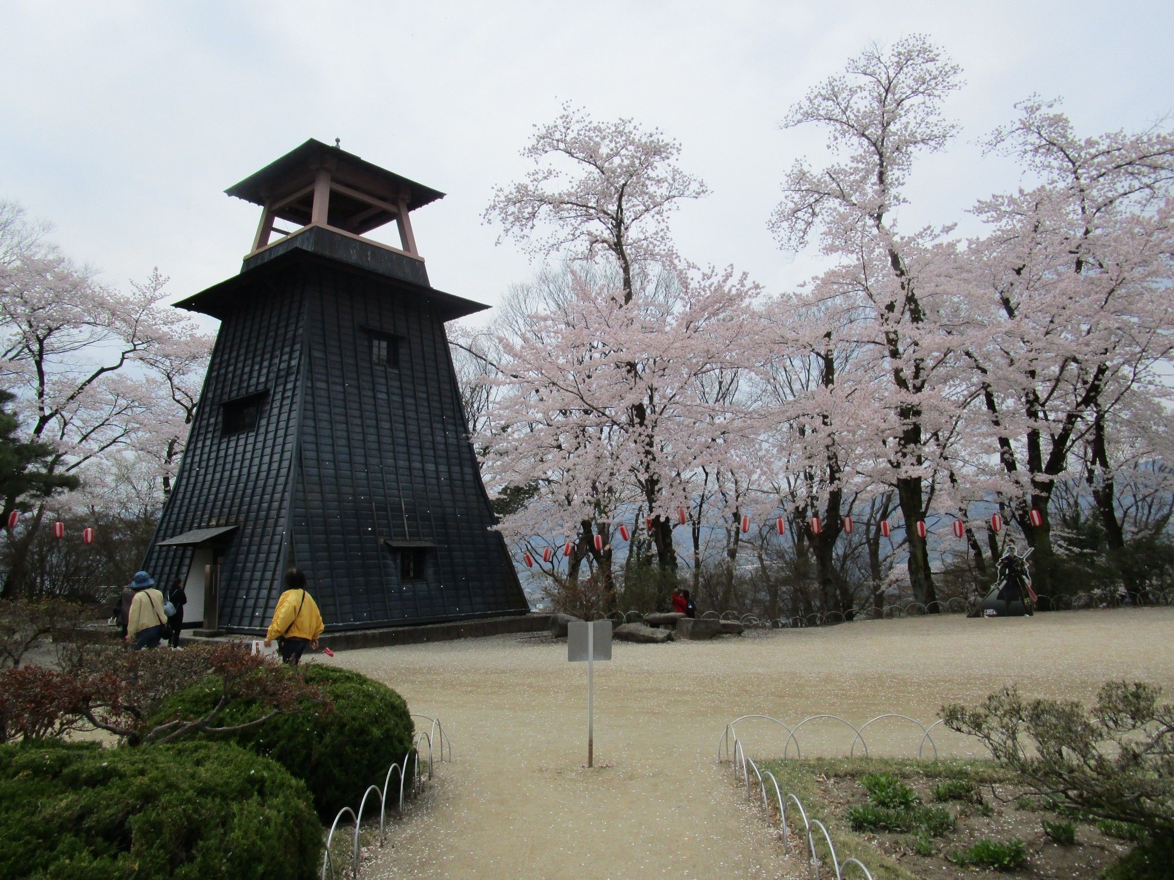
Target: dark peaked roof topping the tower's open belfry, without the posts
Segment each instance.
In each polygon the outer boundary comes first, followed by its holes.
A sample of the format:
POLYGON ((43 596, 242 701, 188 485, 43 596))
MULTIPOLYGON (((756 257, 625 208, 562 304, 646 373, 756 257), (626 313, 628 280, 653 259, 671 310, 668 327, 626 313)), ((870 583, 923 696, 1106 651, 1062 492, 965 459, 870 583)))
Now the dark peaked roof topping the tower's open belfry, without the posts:
POLYGON ((330 171, 333 190, 328 223, 355 235, 389 223, 396 216, 389 210, 392 207, 404 203, 409 211, 414 211, 444 198, 444 192, 312 137, 224 191, 254 204, 274 205, 276 217, 302 226, 310 222, 313 182, 323 168, 330 171), (366 198, 350 197, 348 189, 366 198), (372 204, 372 197, 385 202, 387 209, 372 204))

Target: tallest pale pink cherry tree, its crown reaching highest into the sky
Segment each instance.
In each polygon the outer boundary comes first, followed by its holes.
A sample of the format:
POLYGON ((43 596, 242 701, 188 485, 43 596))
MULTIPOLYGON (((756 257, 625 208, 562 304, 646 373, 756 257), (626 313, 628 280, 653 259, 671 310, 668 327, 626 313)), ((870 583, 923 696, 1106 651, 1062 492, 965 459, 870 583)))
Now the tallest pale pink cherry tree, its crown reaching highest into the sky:
MULTIPOLYGON (((822 250, 839 260, 824 278, 857 310, 857 336, 889 379, 891 418, 878 424, 891 441, 889 461, 906 524, 925 519, 924 481, 933 453, 926 448, 939 408, 933 373, 944 360, 935 298, 940 278, 933 243, 942 230, 902 235, 896 211, 919 154, 945 148, 956 126, 942 111, 960 86, 959 68, 923 36, 888 52, 873 46, 849 61, 844 74, 817 86, 784 127, 817 124, 838 160, 821 170, 797 162, 783 184, 771 221, 780 243, 798 249, 818 233, 822 250)), ((909 578, 917 601, 936 600, 925 541, 909 536, 909 578)))

